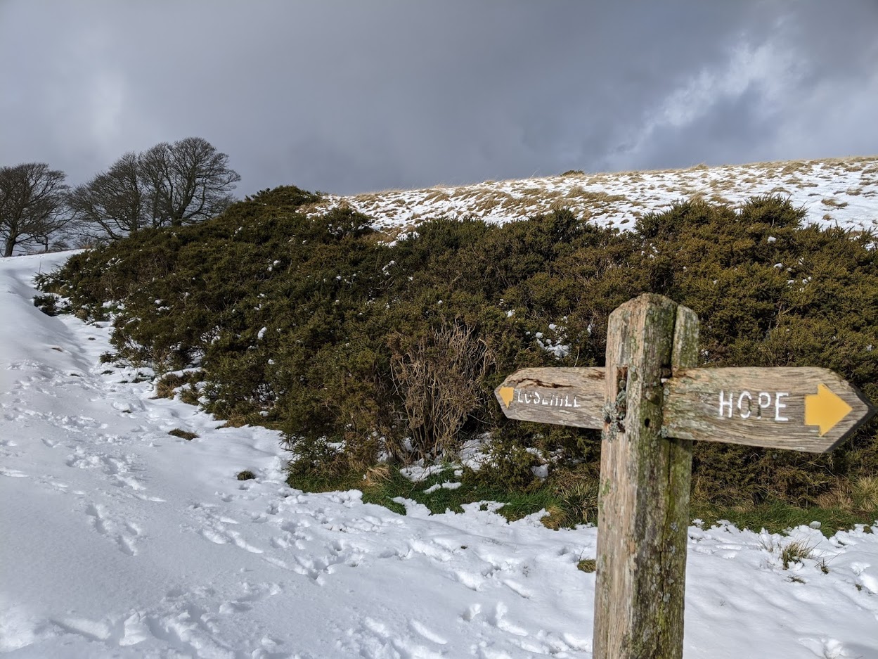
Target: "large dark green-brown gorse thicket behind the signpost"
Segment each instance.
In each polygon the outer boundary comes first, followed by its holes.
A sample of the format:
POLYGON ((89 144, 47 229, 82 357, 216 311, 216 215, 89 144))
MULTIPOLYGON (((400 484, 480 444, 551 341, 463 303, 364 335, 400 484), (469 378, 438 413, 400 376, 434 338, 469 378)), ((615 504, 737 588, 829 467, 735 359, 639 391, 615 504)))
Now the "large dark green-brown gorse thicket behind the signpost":
MULTIPOLYGON (((312 481, 379 457, 449 459, 490 433, 488 466, 468 477, 533 489, 548 460, 586 510, 599 433, 510 423, 493 388, 523 366, 601 366, 608 315, 644 292, 700 316, 704 365, 825 366, 878 399, 873 238, 802 228, 783 199, 678 203, 626 233, 564 210, 503 227, 437 218, 392 245, 349 209, 307 216, 315 200, 263 191, 41 283, 80 314, 112 314, 117 358, 197 367, 205 409, 284 431, 293 475, 312 481)), ((697 444, 695 496, 814 501, 874 474, 875 428, 830 455, 697 444)))

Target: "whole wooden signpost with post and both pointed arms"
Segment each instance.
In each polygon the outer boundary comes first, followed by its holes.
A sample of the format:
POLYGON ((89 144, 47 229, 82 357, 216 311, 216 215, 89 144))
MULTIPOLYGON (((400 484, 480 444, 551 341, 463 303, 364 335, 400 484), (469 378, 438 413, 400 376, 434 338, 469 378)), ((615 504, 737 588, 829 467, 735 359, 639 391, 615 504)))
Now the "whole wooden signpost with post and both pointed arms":
POLYGON ((609 317, 607 366, 526 368, 522 421, 601 429, 595 659, 679 659, 692 441, 831 451, 875 409, 824 368, 696 368, 698 317, 645 294, 609 317))

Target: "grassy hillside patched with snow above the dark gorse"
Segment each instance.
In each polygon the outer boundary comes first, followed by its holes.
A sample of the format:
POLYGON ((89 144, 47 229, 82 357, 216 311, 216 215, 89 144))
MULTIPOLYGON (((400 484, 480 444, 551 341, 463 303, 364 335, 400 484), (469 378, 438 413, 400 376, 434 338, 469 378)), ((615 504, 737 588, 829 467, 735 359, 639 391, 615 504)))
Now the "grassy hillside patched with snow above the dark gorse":
POLYGON ((395 234, 439 215, 505 222, 566 207, 583 220, 624 229, 632 228, 641 215, 680 199, 700 197, 737 205, 760 194, 789 197, 795 206, 807 209, 809 222, 821 226, 878 228, 878 156, 613 174, 567 172, 477 185, 329 195, 313 212, 348 205, 395 234))

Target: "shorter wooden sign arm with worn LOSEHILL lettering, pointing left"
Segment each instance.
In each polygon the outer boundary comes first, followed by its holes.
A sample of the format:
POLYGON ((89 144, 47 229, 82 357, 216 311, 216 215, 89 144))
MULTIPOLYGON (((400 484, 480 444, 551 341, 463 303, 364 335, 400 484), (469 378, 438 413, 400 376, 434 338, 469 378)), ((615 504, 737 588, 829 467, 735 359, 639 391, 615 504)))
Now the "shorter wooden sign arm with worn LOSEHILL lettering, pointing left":
POLYGON ((512 419, 600 429, 604 389, 602 367, 522 368, 494 395, 512 419))

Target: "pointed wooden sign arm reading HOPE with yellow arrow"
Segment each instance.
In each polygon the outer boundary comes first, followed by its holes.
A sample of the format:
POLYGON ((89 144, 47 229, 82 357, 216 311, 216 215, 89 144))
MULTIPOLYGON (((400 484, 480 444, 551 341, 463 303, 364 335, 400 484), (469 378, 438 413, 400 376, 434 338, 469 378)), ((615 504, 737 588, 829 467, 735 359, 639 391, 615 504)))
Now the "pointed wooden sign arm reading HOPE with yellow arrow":
POLYGON ((665 382, 662 431, 666 437, 823 453, 873 414, 856 387, 825 368, 694 368, 665 382), (810 397, 820 385, 850 408, 846 414, 842 408, 844 416, 822 435, 819 425, 806 424, 813 420, 806 407, 817 404, 810 397))

